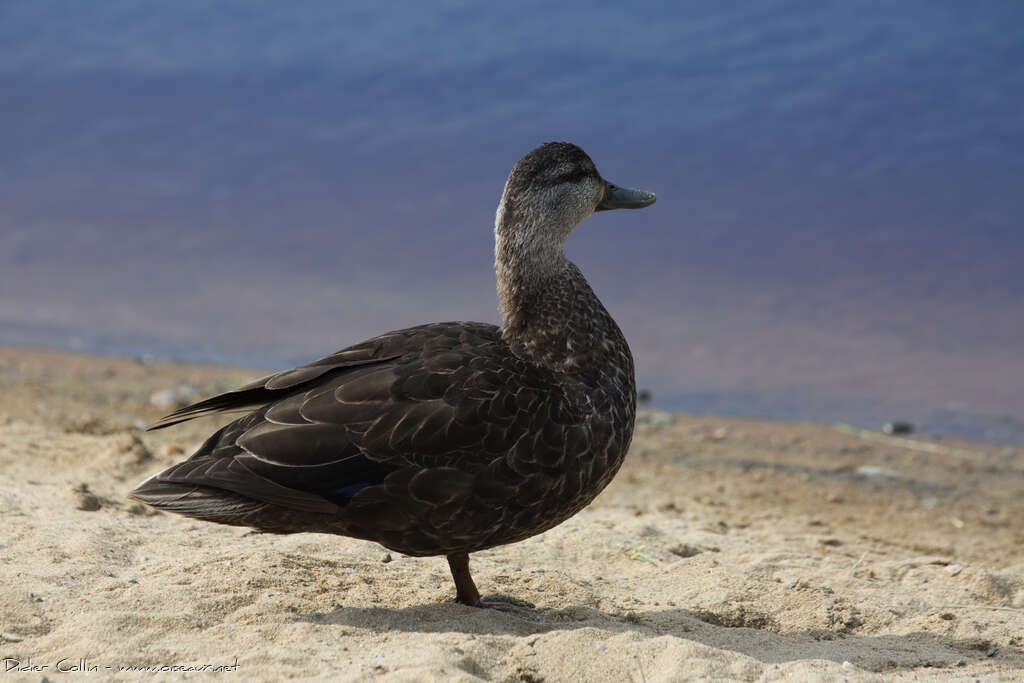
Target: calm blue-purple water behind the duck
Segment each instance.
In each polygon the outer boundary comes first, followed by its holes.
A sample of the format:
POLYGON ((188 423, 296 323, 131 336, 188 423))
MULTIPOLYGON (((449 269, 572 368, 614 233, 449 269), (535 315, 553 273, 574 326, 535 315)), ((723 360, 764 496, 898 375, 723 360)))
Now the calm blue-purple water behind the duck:
POLYGON ((666 408, 1024 442, 1017 2, 0 6, 0 341, 280 366, 497 321, 512 163, 666 408))

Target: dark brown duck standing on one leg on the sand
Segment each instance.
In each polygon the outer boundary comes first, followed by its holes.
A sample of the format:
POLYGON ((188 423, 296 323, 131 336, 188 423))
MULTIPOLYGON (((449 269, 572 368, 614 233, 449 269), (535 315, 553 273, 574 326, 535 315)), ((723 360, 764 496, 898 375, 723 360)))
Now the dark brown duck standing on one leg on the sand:
POLYGON ((444 555, 464 605, 469 554, 542 533, 618 471, 636 416, 633 355, 569 233, 652 193, 605 180, 569 142, 515 164, 495 218, 501 324, 430 323, 181 408, 150 429, 229 412, 187 460, 130 498, 269 533, 318 532, 411 556, 444 555))

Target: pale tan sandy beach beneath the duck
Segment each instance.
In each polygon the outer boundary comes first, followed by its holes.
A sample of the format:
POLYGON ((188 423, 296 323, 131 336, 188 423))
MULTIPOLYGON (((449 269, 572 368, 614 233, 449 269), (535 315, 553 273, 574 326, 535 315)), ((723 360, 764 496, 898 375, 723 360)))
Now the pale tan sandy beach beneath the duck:
POLYGON ((258 374, 0 348, 3 680, 1024 679, 1024 449, 645 413, 589 509, 472 556, 509 613, 126 500, 218 424, 140 431, 155 391, 258 374))

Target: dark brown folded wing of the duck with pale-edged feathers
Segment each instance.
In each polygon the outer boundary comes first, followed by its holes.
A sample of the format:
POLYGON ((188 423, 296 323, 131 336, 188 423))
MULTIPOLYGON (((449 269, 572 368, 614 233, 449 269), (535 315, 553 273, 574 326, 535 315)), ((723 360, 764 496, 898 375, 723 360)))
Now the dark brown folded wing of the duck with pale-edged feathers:
POLYGON ((546 444, 561 456, 578 436, 552 377, 513 355, 494 326, 437 324, 371 342, 169 416, 162 422, 259 405, 133 495, 159 507, 182 486, 212 487, 332 513, 389 475, 424 500, 454 496, 523 439, 526 452, 546 444))

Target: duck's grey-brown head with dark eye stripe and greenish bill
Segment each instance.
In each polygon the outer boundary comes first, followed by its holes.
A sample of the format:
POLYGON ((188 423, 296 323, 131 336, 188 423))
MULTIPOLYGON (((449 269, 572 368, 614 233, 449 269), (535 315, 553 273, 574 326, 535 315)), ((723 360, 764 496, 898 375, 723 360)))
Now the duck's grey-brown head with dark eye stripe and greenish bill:
POLYGON ((495 236, 500 244, 514 243, 519 250, 560 252, 569 232, 595 211, 642 209, 654 200, 652 193, 602 178, 577 145, 546 142, 520 159, 509 174, 495 236))

